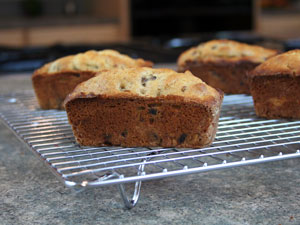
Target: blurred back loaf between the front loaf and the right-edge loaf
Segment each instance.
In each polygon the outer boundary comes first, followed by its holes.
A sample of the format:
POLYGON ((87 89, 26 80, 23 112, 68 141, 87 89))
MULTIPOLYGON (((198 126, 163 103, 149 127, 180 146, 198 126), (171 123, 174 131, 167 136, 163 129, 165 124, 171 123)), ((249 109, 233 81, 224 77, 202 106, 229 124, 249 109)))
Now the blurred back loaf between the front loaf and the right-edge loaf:
POLYGON ((212 40, 182 53, 178 70, 190 70, 207 84, 227 94, 249 94, 247 73, 275 50, 230 40, 212 40))

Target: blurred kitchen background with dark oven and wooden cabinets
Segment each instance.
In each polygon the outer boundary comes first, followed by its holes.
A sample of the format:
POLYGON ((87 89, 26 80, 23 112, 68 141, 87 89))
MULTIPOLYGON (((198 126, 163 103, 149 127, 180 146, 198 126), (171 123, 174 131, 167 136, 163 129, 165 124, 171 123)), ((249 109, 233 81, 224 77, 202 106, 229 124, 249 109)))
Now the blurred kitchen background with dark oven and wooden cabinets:
POLYGON ((89 49, 174 63, 214 38, 300 48, 300 0, 0 0, 0 74, 89 49))

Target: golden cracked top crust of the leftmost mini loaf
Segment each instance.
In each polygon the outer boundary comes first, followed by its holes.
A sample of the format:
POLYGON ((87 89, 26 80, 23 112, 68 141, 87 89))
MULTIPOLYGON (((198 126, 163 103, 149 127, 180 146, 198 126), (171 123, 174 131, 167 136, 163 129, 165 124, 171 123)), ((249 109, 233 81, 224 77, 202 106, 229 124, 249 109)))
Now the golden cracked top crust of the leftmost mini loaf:
POLYGON ((143 59, 133 59, 114 50, 90 50, 76 55, 59 58, 45 64, 34 74, 57 74, 64 72, 98 72, 112 68, 151 67, 152 62, 143 59))

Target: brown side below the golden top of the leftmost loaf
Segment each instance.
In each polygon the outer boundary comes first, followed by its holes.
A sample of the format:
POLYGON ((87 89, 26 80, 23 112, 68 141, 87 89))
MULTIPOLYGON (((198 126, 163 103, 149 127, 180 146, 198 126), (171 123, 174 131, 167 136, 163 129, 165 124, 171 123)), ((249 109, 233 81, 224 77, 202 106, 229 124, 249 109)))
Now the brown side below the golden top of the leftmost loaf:
POLYGON ((63 102, 67 95, 94 75, 95 72, 35 74, 32 85, 42 109, 64 109, 63 102))

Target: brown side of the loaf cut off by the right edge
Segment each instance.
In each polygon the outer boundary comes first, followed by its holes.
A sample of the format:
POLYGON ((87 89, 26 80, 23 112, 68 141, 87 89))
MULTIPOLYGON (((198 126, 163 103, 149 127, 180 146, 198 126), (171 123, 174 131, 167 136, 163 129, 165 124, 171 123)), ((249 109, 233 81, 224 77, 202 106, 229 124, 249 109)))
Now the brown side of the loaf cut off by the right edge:
POLYGON ((300 77, 253 76, 251 94, 256 114, 266 118, 300 118, 300 77))

